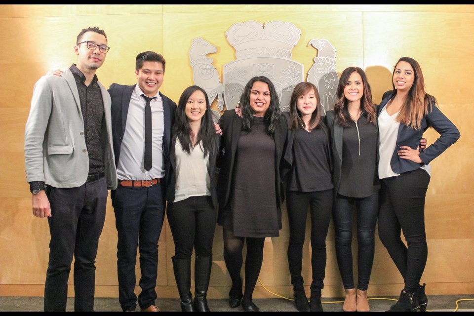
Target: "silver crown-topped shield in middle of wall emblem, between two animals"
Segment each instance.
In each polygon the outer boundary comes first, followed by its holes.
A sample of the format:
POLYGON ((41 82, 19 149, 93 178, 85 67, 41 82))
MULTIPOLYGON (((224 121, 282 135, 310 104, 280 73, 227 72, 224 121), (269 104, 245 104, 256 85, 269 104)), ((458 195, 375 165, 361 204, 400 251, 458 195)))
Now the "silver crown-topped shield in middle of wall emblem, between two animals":
POLYGON ((291 92, 303 81, 304 66, 291 60, 291 49, 301 31, 292 23, 272 21, 263 26, 256 21, 234 24, 226 36, 236 49, 237 60, 224 65, 224 101, 235 109, 247 82, 255 76, 272 80, 280 109, 289 110, 291 92))

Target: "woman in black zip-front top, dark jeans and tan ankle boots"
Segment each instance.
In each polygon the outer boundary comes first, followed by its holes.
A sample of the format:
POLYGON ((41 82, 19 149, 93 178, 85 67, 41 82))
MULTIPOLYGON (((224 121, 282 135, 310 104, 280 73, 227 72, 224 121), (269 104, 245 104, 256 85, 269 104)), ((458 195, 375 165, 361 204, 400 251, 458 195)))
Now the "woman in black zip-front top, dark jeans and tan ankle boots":
POLYGON ((375 108, 362 69, 349 67, 337 87, 339 101, 326 113, 334 160, 336 258, 346 298, 346 312, 369 311, 367 287, 375 251, 378 214, 377 126, 375 108), (357 209, 357 291, 353 277, 352 219, 357 209))

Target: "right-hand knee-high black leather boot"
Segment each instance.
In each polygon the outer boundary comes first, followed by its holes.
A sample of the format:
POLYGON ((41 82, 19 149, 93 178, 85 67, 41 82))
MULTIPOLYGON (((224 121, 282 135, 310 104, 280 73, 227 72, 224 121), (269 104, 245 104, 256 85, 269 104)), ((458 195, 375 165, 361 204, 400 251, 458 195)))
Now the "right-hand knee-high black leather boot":
POLYGON ((210 312, 207 306, 207 288, 211 276, 212 256, 196 256, 194 265, 194 307, 197 312, 210 312))

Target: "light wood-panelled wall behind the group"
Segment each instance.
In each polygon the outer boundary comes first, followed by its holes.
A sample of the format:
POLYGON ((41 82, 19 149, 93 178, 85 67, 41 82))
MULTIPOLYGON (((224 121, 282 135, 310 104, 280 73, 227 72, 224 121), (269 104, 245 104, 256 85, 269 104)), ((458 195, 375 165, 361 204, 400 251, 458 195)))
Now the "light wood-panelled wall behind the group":
MULTIPOLYGON (((214 59, 222 80, 223 65, 235 59, 225 32, 232 24, 247 20, 295 24, 302 34, 292 59, 304 64, 305 78, 316 56, 316 50, 307 47, 308 41, 329 40, 337 49, 338 73, 349 66, 364 69, 375 102, 391 88, 391 72, 399 57, 410 56, 421 64, 428 92, 435 95, 440 109, 462 134, 432 163, 426 205, 429 257, 422 281, 428 283, 429 294, 474 293, 473 5, 0 5, 0 296, 43 294, 49 231, 46 220, 31 215, 31 194, 24 174, 24 127, 35 82, 51 69, 76 62, 73 48, 79 31, 98 26, 107 33, 111 50, 97 72, 105 86, 135 83, 136 55, 145 50, 162 53, 167 63, 161 92, 177 101, 193 83, 188 55, 192 40, 202 37, 218 47, 208 57, 214 59)), ((429 143, 436 137, 433 130, 426 133, 429 143)), ((290 297, 285 209, 283 213, 280 237, 266 240, 260 280, 270 290, 290 297)), ((326 244, 323 296, 340 297, 343 288, 332 224, 326 244)), ((97 296, 118 296, 116 245, 109 203, 97 256, 97 296)), ((309 287, 308 240, 305 249, 303 273, 309 287)), ((209 297, 224 298, 230 279, 220 228, 213 252, 209 297)), ((177 297, 173 255, 166 224, 159 241, 159 297, 177 297)), ((377 239, 369 295, 397 295, 400 288, 402 279, 377 239)), ((273 296, 257 286, 255 297, 273 296)))

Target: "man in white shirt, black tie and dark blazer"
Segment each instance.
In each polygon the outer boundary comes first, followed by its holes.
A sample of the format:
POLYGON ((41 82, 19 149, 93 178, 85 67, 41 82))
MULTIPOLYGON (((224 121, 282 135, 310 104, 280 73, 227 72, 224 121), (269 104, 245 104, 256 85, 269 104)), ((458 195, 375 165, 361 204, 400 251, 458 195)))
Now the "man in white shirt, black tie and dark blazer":
POLYGON ((118 231, 118 299, 134 311, 137 248, 140 252, 141 311, 158 312, 155 300, 158 239, 165 210, 165 162, 176 103, 158 92, 165 60, 146 51, 136 58, 138 84, 112 84, 112 136, 118 187, 111 192, 118 231), (149 127, 151 123, 151 127, 149 127), (151 157, 149 156, 151 155, 151 157))

